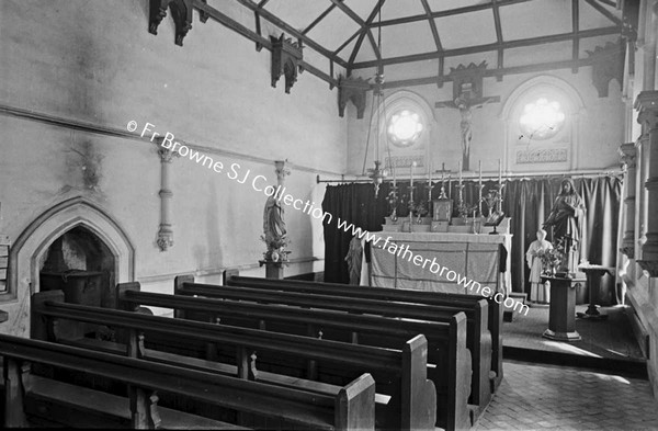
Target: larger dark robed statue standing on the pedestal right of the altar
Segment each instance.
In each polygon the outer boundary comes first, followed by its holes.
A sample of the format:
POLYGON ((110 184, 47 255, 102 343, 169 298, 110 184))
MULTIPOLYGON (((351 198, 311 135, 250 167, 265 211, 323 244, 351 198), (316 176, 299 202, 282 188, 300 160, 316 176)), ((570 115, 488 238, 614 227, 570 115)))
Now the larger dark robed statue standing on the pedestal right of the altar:
POLYGON ((574 273, 578 268, 578 251, 585 223, 585 202, 576 192, 574 181, 565 178, 560 184, 560 192, 555 199, 551 215, 543 227, 553 228, 553 241, 561 242, 565 250, 564 271, 574 273))

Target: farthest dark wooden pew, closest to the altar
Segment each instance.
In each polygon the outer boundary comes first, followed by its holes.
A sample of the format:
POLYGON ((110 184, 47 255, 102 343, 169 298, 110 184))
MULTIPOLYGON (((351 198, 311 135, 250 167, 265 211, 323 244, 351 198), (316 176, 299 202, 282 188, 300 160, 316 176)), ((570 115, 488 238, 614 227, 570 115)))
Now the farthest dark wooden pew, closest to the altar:
POLYGON ((224 285, 457 307, 473 307, 483 298, 487 299, 489 305, 488 328, 492 339, 491 371, 494 372, 494 375, 491 381, 491 392, 495 392, 502 381, 502 305, 497 303, 492 297, 387 287, 353 286, 339 283, 257 279, 240 276, 237 270, 227 270, 224 272, 224 285))

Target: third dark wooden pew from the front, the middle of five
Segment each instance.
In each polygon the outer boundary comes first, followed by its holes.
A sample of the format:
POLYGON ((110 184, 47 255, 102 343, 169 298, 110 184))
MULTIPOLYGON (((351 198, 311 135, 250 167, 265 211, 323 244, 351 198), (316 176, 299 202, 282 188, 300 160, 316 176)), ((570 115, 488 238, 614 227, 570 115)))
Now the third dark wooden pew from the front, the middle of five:
MULTIPOLYGON (((454 315, 450 322, 400 320, 339 311, 304 309, 281 305, 225 302, 188 296, 138 292, 136 286, 120 288, 120 303, 177 309, 178 317, 224 325, 256 327, 271 331, 314 336, 324 339, 395 348, 405 340, 424 334, 428 340, 428 376, 436 388, 436 424, 447 430, 468 429, 467 405, 470 392, 470 352, 466 349, 466 316, 454 315)), ((309 368, 313 365, 309 365, 309 368)), ((317 372, 310 371, 315 376, 317 372)))

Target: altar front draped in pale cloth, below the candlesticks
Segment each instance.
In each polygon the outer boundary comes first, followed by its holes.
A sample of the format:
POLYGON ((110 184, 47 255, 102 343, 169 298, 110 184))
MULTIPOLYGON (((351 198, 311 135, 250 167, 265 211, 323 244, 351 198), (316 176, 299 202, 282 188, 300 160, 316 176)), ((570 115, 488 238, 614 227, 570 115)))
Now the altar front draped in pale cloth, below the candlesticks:
MULTIPOLYGON (((371 248, 368 277, 362 284, 377 287, 409 288, 460 294, 478 293, 465 286, 469 280, 488 286, 492 293, 511 292, 511 234, 379 232, 382 240, 371 248), (390 245, 398 248, 392 252, 390 245), (400 248, 404 248, 401 252, 400 248), (443 271, 415 263, 413 257, 434 260, 443 271), (456 277, 453 273, 456 273, 456 277), (464 283, 464 279, 466 282, 464 283), (462 280, 462 282, 461 282, 462 280)), ((416 258, 419 259, 419 258, 416 258)), ((419 260, 420 261, 420 260, 419 260)), ((436 268, 434 268, 436 269, 436 268)), ((362 275, 363 277, 363 275, 362 275)), ((480 291, 481 292, 481 291, 480 291)))

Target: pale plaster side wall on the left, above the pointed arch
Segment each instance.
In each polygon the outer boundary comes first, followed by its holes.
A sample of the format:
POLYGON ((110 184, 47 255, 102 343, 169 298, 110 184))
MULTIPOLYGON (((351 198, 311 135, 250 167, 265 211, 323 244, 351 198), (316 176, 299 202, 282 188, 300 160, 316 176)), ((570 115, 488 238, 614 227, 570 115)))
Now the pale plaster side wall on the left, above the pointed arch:
MULTIPOLYGON (((291 94, 283 78, 272 88, 270 52, 212 20, 202 24, 196 11, 183 47, 173 43, 170 16, 157 36, 147 29, 147 0, 0 2, 0 232, 14 241, 39 214, 83 196, 125 231, 135 248, 134 279, 145 291, 172 292, 179 273, 218 282, 222 270, 241 268, 264 276, 258 260, 266 196, 251 181, 261 174, 275 183, 273 161, 287 159, 287 192, 320 206, 316 174, 345 170, 337 91, 309 73, 291 94), (49 121, 8 115, 13 110, 49 121), (59 120, 65 124, 53 124, 59 120), (160 158, 154 144, 116 136, 129 121, 139 125, 134 135, 149 122, 161 135, 207 148, 225 167, 219 174, 189 158, 173 160, 174 246, 166 252, 156 245, 160 158), (250 171, 245 184, 227 177, 231 163, 250 171)), ((285 274, 321 271, 320 223, 286 207, 286 224, 298 262, 285 274)), ((16 324, 27 316, 30 286, 19 284, 21 300, 0 298, 10 314, 0 332, 24 336, 29 328, 16 324)))

